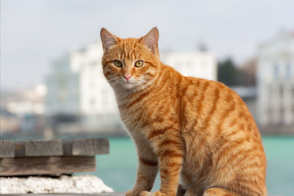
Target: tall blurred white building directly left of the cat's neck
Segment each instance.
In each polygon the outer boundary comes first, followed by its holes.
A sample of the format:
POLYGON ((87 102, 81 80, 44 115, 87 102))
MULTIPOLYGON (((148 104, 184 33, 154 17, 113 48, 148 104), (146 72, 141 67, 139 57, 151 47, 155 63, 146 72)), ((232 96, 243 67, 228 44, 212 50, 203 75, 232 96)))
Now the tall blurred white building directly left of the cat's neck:
POLYGON ((79 74, 80 112, 85 115, 117 114, 113 89, 102 72, 103 48, 101 42, 70 54, 71 70, 79 74))

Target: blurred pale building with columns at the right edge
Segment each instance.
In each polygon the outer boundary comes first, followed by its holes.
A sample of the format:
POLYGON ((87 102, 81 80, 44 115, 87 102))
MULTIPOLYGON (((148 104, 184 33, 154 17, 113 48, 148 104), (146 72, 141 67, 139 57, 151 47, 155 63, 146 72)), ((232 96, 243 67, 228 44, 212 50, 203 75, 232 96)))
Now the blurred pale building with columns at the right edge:
POLYGON ((259 124, 293 124, 293 33, 281 33, 260 45, 257 86, 259 124))

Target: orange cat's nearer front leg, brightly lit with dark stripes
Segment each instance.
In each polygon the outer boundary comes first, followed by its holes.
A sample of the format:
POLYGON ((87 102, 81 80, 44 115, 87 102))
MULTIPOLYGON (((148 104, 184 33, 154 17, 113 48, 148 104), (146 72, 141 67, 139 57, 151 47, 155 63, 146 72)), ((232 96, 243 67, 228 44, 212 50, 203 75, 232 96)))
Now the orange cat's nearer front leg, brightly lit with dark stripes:
POLYGON ((143 191, 140 196, 176 196, 184 156, 181 135, 168 126, 148 137, 158 156, 161 186, 159 191, 143 191))

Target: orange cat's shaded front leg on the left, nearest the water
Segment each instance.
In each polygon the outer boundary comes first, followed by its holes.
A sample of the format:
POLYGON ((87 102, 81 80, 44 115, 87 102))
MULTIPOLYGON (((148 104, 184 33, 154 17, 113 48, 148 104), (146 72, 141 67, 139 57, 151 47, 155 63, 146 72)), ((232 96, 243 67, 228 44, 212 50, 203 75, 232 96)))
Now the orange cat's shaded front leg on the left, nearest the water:
POLYGON ((158 173, 158 161, 146 141, 135 141, 138 151, 138 169, 133 190, 127 191, 126 196, 137 196, 142 191, 151 191, 158 173))

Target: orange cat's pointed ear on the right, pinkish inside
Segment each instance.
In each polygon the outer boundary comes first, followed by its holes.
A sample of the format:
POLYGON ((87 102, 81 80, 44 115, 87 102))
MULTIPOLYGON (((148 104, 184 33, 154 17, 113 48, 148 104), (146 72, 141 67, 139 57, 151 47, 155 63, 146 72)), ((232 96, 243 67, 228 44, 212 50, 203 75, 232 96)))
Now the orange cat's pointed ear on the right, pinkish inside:
POLYGON ((158 54, 158 39, 159 39, 159 31, 157 27, 154 27, 146 34, 146 36, 142 38, 140 43, 143 43, 148 48, 150 48, 153 54, 158 54))

